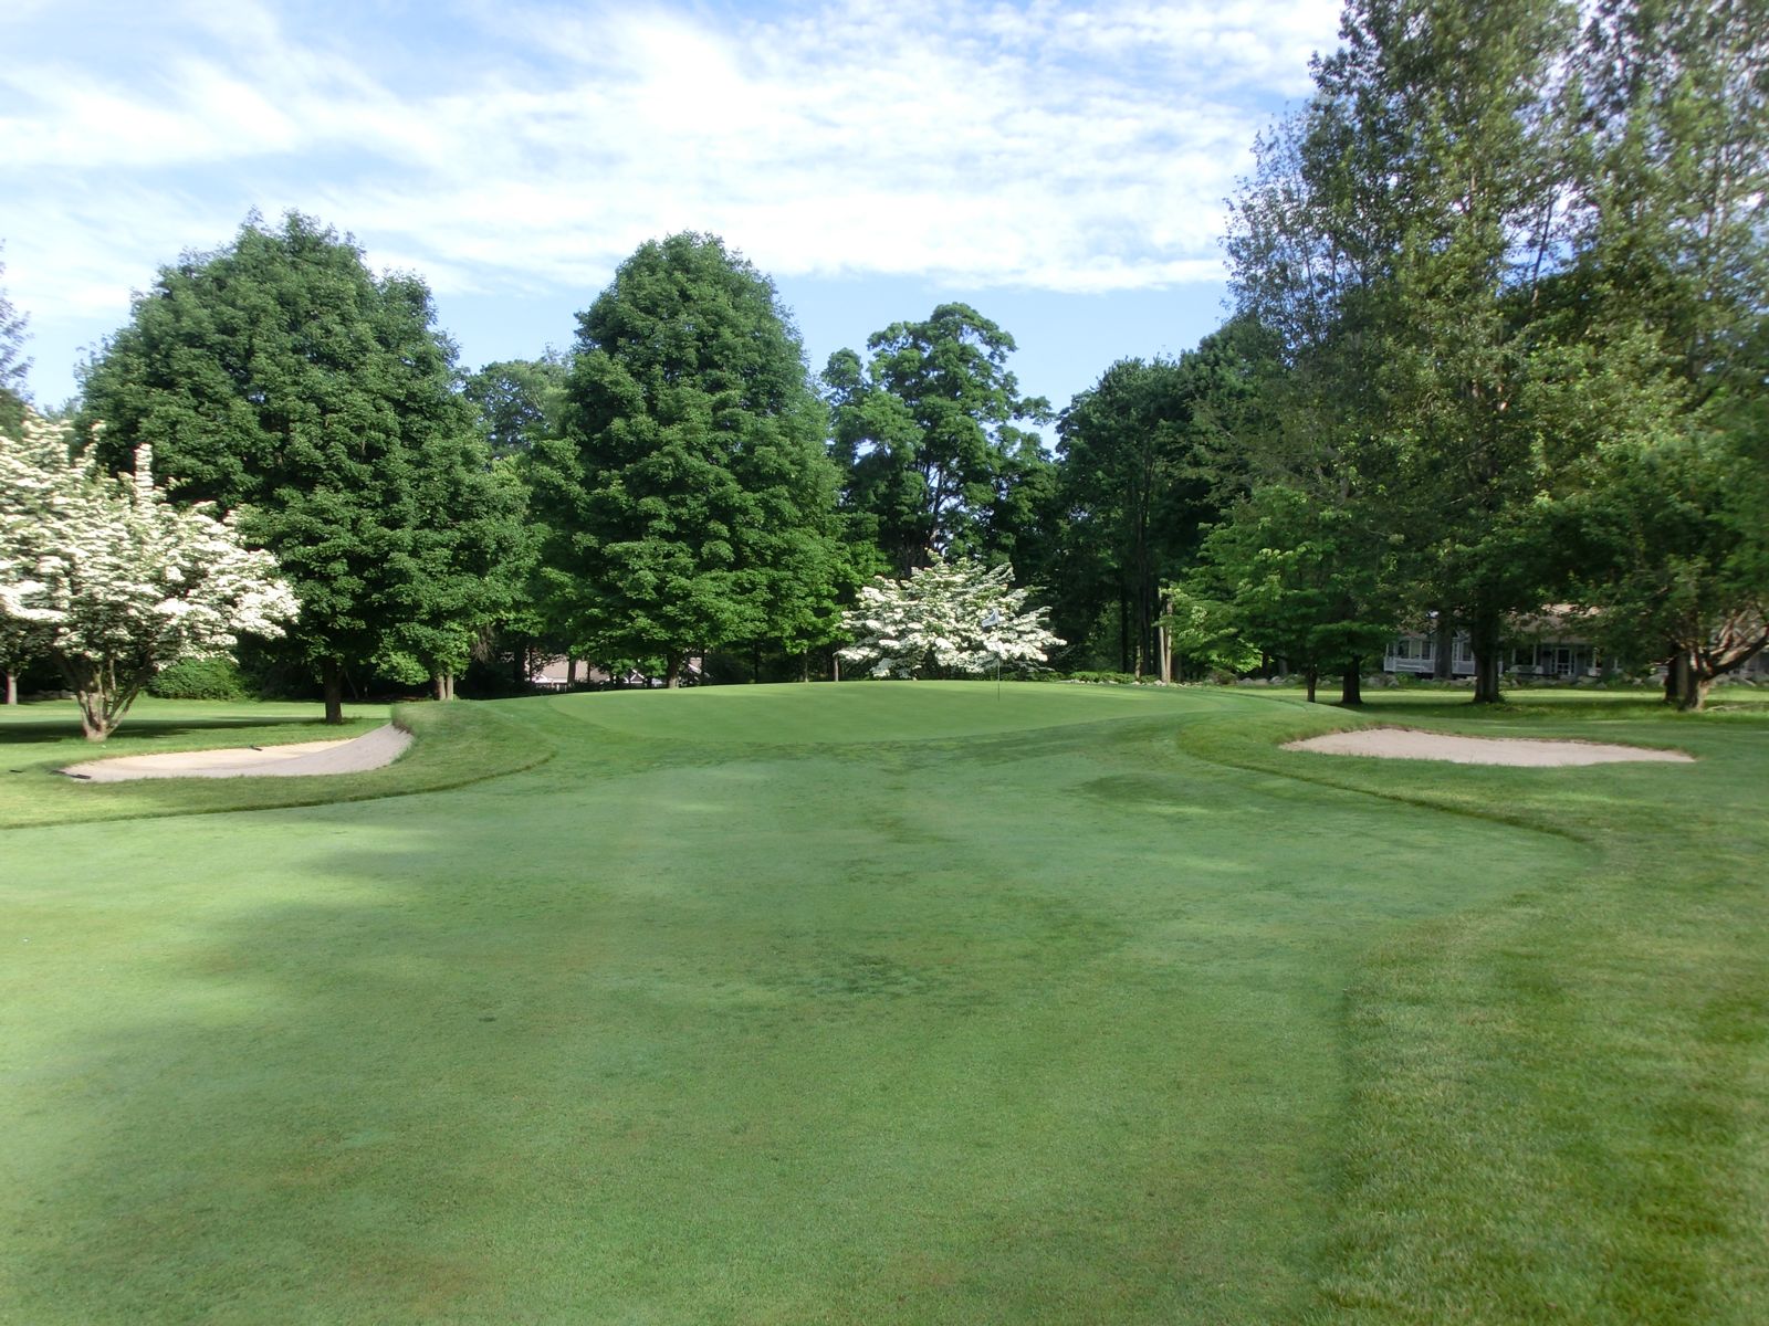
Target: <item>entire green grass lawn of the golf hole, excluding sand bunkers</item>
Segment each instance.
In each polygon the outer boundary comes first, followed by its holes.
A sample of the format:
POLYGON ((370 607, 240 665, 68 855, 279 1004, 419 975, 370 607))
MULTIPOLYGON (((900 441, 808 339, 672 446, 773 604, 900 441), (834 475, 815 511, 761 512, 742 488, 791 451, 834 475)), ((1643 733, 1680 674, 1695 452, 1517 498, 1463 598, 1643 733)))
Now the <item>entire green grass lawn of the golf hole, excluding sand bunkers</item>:
POLYGON ((610 693, 136 787, 27 707, 0 1321, 1760 1322, 1769 707, 1721 698, 610 693), (1698 764, 1277 750, 1364 721, 1698 764))

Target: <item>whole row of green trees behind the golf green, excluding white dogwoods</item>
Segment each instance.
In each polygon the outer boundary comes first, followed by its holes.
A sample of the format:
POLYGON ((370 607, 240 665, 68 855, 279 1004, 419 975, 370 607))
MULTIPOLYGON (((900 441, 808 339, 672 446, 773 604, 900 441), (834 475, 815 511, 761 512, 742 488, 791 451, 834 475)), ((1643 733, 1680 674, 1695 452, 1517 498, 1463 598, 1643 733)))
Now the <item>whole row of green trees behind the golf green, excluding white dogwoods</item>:
MULTIPOLYGON (((1341 39, 1231 198, 1228 322, 1061 412, 957 302, 814 375, 695 233, 467 373, 421 279, 292 214, 161 269, 74 423, 278 557, 274 659, 333 718, 490 659, 808 677, 862 585, 948 559, 1038 585, 1068 668, 1355 702, 1419 631, 1491 702, 1557 605, 1698 707, 1769 644, 1769 12, 1352 0, 1341 39)), ((16 338, 0 304, 0 391, 16 338)))

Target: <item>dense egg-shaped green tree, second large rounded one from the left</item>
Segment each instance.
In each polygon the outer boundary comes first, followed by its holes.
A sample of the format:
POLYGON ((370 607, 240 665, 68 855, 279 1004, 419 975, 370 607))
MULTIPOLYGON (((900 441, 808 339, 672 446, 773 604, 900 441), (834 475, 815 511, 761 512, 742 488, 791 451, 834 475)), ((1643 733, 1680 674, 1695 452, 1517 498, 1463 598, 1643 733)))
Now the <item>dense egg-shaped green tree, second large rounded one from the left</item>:
POLYGON ((580 315, 563 437, 532 458, 570 636, 670 684, 697 649, 831 640, 824 424, 768 278, 709 235, 640 246, 580 315))

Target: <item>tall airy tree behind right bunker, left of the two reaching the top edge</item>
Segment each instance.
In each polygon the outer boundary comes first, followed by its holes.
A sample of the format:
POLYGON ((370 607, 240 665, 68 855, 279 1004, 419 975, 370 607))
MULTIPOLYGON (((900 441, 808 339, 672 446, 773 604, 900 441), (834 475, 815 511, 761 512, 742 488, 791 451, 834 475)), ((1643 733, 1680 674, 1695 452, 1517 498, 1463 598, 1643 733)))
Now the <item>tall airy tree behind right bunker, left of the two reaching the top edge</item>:
POLYGON ((1535 315, 1566 256, 1576 21, 1567 0, 1353 0, 1229 242, 1244 311, 1284 339, 1316 469, 1385 507, 1364 525, 1406 536, 1417 606, 1470 633, 1481 702, 1507 619, 1553 578, 1535 525, 1543 440, 1564 431, 1550 410, 1581 407, 1535 315))

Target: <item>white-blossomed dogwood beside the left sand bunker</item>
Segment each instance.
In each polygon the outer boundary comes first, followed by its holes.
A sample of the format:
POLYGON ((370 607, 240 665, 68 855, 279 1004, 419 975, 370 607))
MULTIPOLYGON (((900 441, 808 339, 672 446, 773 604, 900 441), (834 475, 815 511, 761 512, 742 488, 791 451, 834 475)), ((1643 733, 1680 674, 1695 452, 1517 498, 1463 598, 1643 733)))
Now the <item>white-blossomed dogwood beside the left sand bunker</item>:
POLYGON ((53 658, 104 741, 166 663, 276 636, 299 612, 276 559, 248 550, 232 516, 179 509, 133 476, 69 454, 65 424, 27 415, 0 437, 0 622, 53 658))

